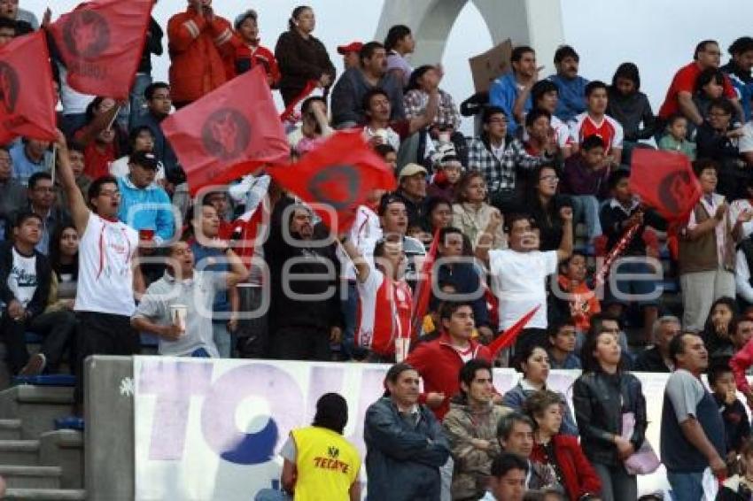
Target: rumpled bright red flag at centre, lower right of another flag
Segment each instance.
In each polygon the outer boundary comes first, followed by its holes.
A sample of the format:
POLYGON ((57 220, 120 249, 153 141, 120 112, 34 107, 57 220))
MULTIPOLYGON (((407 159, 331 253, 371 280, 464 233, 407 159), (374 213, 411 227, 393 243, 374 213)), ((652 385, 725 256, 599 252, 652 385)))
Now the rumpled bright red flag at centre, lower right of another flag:
POLYGON ((268 173, 307 203, 331 207, 334 214, 315 205, 314 211, 338 234, 353 226, 355 211, 366 204, 370 190, 392 190, 396 186, 392 169, 358 132, 331 135, 297 164, 276 166, 268 173))

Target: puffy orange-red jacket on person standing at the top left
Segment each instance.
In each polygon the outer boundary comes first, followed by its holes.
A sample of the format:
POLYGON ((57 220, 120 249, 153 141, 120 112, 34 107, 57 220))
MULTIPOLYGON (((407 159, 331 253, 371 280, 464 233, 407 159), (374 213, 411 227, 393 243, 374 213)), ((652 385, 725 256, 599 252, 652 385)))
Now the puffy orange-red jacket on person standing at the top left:
POLYGON ((206 20, 189 7, 167 22, 170 94, 175 103, 190 103, 232 78, 236 47, 242 44, 227 19, 206 20))

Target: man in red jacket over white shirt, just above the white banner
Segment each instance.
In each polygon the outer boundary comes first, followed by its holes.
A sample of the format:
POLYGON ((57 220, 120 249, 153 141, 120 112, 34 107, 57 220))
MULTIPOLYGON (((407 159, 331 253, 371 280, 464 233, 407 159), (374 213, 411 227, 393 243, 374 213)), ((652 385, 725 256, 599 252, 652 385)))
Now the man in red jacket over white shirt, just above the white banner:
POLYGON ((423 379, 420 402, 426 404, 438 420, 449 410, 450 398, 460 391, 458 374, 471 358, 492 360, 483 345, 470 339, 475 322, 469 303, 447 301, 439 310, 439 338, 419 343, 406 362, 414 366, 423 379))

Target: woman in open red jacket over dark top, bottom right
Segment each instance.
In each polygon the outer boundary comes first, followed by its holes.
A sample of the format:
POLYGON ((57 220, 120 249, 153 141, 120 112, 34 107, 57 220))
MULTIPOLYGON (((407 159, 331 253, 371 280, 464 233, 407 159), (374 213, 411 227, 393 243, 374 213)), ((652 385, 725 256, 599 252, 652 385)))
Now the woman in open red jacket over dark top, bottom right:
POLYGON ((544 389, 525 400, 524 409, 536 423, 531 460, 550 468, 571 501, 598 498, 602 482, 578 445, 578 438, 560 435, 561 399, 544 389))

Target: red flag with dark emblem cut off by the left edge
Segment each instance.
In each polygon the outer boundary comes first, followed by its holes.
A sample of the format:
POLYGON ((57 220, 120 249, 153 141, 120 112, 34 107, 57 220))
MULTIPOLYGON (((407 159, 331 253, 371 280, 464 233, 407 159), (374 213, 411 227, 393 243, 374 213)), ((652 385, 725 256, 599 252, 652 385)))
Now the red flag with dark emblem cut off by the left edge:
POLYGON ((43 31, 0 48, 0 144, 23 135, 55 141, 55 96, 43 31))

